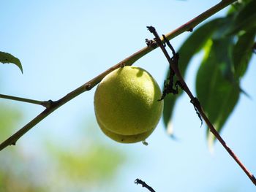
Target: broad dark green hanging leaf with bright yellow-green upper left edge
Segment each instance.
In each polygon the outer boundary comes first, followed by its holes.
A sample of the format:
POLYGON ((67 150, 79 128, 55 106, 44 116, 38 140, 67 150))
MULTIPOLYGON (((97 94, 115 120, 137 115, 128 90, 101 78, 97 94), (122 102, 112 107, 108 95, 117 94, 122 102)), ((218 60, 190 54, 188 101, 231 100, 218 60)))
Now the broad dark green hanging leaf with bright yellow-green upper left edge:
MULTIPOLYGON (((230 81, 225 71, 232 68, 233 38, 209 40, 205 56, 197 72, 196 91, 203 110, 217 131, 221 131, 238 102, 238 82, 230 81)), ((231 71, 231 69, 230 69, 231 71)), ((208 131, 208 143, 214 142, 208 131)))

